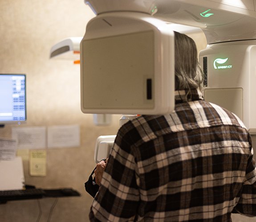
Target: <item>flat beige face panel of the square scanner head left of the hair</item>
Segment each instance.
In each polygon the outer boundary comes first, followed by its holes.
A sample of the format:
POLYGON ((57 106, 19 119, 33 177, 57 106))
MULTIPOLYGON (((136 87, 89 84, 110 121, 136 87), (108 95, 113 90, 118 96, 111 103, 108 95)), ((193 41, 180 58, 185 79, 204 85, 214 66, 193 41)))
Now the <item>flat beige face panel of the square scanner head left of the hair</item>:
POLYGON ((85 108, 154 108, 154 98, 147 99, 147 80, 154 83, 152 31, 85 40, 82 50, 85 108))

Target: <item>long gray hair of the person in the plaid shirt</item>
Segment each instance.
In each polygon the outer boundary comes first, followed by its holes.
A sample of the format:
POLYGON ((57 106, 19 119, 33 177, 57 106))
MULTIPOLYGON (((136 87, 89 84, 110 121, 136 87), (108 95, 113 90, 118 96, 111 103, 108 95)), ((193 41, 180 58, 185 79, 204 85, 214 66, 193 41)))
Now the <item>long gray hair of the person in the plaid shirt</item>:
POLYGON ((197 48, 190 37, 175 34, 175 90, 197 89, 203 82, 203 72, 198 62, 197 48))

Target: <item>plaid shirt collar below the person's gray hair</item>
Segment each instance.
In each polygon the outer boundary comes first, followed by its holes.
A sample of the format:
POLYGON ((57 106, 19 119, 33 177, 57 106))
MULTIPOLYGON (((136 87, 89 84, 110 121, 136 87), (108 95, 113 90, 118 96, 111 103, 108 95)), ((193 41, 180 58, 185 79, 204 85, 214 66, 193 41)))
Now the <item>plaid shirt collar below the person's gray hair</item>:
POLYGON ((203 94, 197 89, 175 91, 175 103, 186 103, 195 100, 203 100, 203 94))

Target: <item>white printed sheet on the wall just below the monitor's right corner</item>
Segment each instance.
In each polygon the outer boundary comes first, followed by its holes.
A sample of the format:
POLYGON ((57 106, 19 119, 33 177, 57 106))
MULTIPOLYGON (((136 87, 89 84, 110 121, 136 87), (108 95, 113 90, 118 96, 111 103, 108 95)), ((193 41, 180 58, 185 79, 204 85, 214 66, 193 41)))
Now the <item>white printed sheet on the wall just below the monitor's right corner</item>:
POLYGON ((15 127, 12 138, 17 140, 18 149, 45 149, 46 127, 15 127))

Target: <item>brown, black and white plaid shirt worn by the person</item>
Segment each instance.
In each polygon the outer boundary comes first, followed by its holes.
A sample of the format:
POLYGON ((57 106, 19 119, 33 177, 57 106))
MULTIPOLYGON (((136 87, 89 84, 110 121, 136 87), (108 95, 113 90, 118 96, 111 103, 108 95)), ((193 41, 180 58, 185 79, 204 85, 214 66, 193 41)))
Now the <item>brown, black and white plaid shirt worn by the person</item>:
POLYGON ((170 115, 143 115, 118 131, 91 221, 231 221, 256 216, 256 165, 238 117, 199 90, 176 91, 170 115))

